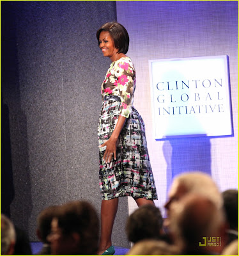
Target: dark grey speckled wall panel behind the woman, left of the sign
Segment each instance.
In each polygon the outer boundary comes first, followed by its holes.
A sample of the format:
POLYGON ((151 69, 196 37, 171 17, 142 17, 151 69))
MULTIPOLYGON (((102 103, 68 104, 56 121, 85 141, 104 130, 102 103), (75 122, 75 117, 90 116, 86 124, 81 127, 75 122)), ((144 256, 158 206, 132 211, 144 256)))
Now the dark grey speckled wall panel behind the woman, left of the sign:
MULTIPOLYGON (((36 216, 48 205, 88 200, 100 213, 97 124, 110 60, 95 34, 116 20, 116 3, 8 1, 1 2, 1 12, 2 94, 15 191, 11 216, 36 241, 36 216)), ((128 246, 122 226, 127 198, 120 201, 114 244, 128 246)))

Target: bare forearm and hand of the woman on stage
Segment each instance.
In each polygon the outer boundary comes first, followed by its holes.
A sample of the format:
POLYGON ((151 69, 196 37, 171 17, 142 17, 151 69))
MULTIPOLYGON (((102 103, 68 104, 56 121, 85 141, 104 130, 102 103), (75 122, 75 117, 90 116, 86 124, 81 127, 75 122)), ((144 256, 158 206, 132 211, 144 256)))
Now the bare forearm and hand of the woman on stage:
POLYGON ((113 154, 114 154, 114 160, 116 160, 116 147, 117 147, 116 144, 117 144, 117 141, 119 138, 119 134, 120 134, 123 126, 125 125, 126 119, 127 118, 124 116, 119 116, 116 127, 114 128, 114 131, 111 134, 111 138, 109 138, 109 140, 105 141, 105 143, 103 143, 102 145, 99 146, 100 148, 106 146, 105 154, 103 157, 103 160, 106 163, 111 162, 113 154))

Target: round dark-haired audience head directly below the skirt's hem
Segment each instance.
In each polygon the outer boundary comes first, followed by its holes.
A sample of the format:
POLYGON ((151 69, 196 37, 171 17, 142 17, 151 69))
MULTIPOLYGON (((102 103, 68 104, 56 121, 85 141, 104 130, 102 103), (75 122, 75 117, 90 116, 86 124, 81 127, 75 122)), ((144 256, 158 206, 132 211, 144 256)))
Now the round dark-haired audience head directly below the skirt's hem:
POLYGON ((162 215, 155 205, 142 205, 128 217, 126 232, 128 240, 133 243, 142 239, 158 239, 161 231, 162 215))

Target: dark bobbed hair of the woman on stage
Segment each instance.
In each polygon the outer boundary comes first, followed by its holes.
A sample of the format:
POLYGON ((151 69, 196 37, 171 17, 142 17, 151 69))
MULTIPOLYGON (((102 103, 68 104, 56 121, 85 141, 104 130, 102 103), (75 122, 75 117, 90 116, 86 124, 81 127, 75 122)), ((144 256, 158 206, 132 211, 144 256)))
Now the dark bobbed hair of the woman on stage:
POLYGON ((118 53, 126 54, 128 51, 128 45, 130 43, 130 38, 128 37, 128 32, 124 26, 118 22, 107 22, 101 26, 96 32, 96 38, 98 44, 100 44, 99 38, 102 31, 108 31, 114 40, 114 47, 118 49, 118 53))

